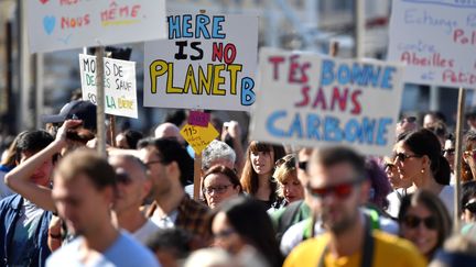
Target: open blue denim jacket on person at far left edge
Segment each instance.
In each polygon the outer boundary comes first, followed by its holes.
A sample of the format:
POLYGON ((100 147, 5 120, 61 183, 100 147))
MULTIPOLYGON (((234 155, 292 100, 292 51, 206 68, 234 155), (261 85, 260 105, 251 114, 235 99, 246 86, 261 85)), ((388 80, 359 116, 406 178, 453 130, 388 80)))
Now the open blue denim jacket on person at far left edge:
MULTIPOLYGON (((11 266, 9 256, 13 249, 11 243, 17 221, 21 216, 23 197, 15 193, 0 201, 0 266, 11 266)), ((47 246, 47 232, 52 213, 46 211, 41 218, 41 223, 35 232, 35 254, 31 256, 29 266, 45 266, 51 251, 47 246)))

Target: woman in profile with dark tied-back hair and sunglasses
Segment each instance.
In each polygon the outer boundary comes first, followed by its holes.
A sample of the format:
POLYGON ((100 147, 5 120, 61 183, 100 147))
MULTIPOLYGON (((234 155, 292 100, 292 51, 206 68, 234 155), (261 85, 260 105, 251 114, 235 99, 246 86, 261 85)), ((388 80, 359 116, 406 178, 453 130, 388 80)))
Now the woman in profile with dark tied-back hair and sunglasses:
MULTIPOLYGON (((450 214, 454 209, 454 189, 450 185, 450 165, 441 155, 441 145, 437 137, 429 130, 409 132, 398 137, 393 147, 393 175, 401 180, 411 181, 408 192, 425 189, 445 204, 450 214)), ((400 199, 390 200, 388 211, 400 209, 400 199)), ((389 212, 394 216, 393 212, 389 212)))

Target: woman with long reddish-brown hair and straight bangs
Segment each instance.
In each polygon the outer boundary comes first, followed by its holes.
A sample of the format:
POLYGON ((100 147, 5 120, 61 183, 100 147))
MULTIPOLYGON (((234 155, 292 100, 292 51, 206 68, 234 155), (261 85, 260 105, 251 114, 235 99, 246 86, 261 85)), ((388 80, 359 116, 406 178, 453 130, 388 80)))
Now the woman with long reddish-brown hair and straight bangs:
POLYGON ((245 192, 259 200, 267 210, 277 209, 282 201, 277 194, 278 185, 272 175, 274 162, 284 155, 281 145, 252 141, 248 147, 241 186, 245 192))

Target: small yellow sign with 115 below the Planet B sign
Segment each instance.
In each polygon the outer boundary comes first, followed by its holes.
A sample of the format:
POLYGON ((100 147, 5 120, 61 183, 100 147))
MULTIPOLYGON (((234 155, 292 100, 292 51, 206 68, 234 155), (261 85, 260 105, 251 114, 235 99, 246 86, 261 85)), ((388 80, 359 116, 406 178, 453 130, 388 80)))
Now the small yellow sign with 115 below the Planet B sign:
POLYGON ((208 126, 202 127, 196 125, 186 124, 181 130, 181 135, 188 142, 188 144, 194 148, 195 154, 202 154, 202 151, 218 136, 218 132, 208 123, 208 126))

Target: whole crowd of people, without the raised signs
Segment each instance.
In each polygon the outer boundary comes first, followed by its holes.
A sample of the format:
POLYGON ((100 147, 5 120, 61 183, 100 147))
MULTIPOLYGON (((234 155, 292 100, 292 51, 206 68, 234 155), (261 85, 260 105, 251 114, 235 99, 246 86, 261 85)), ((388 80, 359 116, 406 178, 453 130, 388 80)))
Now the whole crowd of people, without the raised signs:
POLYGON ((75 100, 2 154, 0 266, 476 266, 474 119, 461 169, 437 112, 403 116, 387 157, 247 141, 214 119, 194 185, 185 118, 101 156, 96 107, 75 100))

